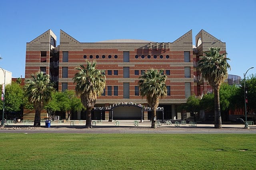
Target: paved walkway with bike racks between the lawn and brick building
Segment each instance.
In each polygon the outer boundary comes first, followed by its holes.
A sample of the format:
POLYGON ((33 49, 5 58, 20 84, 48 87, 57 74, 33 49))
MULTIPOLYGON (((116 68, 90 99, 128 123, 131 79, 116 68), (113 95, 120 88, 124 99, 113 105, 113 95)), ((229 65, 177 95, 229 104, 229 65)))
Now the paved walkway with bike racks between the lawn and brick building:
POLYGON ((164 125, 152 129, 150 121, 144 121, 134 125, 134 121, 95 122, 90 129, 84 128, 85 121, 67 121, 65 123, 52 123, 49 128, 45 124, 33 128, 29 125, 17 123, 7 125, 0 129, 0 133, 255 133, 256 125, 249 125, 250 129, 244 129, 244 124, 223 124, 222 129, 214 129, 213 124, 197 124, 197 126, 164 125))

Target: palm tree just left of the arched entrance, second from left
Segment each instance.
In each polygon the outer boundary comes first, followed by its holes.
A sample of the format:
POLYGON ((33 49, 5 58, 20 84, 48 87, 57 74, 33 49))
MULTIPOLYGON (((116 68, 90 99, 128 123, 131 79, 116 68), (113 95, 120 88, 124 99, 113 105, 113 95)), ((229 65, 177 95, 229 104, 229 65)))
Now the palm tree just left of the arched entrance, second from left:
POLYGON ((97 95, 100 96, 105 88, 106 76, 104 70, 96 69, 96 62, 86 61, 87 66, 76 67, 73 80, 76 83, 76 94, 80 94, 81 102, 86 107, 86 128, 92 127, 91 109, 94 107, 97 95))

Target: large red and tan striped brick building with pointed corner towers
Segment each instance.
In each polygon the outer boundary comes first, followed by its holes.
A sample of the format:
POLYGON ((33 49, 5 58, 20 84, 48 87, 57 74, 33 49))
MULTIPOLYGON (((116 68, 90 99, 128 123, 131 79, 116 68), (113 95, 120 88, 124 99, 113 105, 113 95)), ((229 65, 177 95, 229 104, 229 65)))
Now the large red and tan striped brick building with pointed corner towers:
MULTIPOLYGON (((48 30, 26 45, 25 78, 41 70, 50 74, 59 91, 74 90, 74 68, 86 64, 85 60, 96 61, 98 69, 106 70, 106 88, 96 102, 103 110, 95 110, 92 119, 150 119, 150 111, 138 107, 147 106, 139 95, 138 79, 150 68, 163 69, 168 77, 167 97, 160 100, 164 112, 158 113, 158 119, 180 119, 177 106, 186 103, 189 96, 209 90, 196 70, 196 62, 209 47, 221 47, 226 52, 226 43, 204 30, 196 35, 196 46, 192 44, 192 30, 173 42, 161 43, 133 39, 80 43, 60 30, 60 45, 48 30)), ((24 119, 32 118, 33 111, 24 111, 24 119)), ((85 117, 74 113, 72 119, 85 117)))

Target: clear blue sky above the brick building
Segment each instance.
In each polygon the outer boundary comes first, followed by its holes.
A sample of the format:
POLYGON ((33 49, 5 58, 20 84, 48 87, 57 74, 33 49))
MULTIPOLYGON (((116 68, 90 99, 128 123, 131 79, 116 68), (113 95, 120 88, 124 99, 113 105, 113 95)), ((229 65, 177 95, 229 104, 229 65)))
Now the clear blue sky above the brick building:
POLYGON ((24 77, 26 43, 48 29, 80 42, 173 42, 204 29, 226 43, 231 71, 256 74, 256 0, 1 0, 0 66, 24 77))

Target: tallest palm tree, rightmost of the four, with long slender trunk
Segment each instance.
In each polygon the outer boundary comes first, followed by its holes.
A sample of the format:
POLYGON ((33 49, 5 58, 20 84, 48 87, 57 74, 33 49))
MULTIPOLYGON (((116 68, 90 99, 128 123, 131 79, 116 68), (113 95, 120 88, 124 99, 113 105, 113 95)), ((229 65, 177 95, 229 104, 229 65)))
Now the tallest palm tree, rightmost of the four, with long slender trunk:
POLYGON ((227 53, 220 54, 220 50, 220 47, 211 47, 198 61, 198 70, 202 78, 208 80, 214 90, 215 128, 222 128, 219 90, 220 85, 228 76, 228 68, 230 69, 230 65, 227 63, 230 60, 226 57, 227 53))

